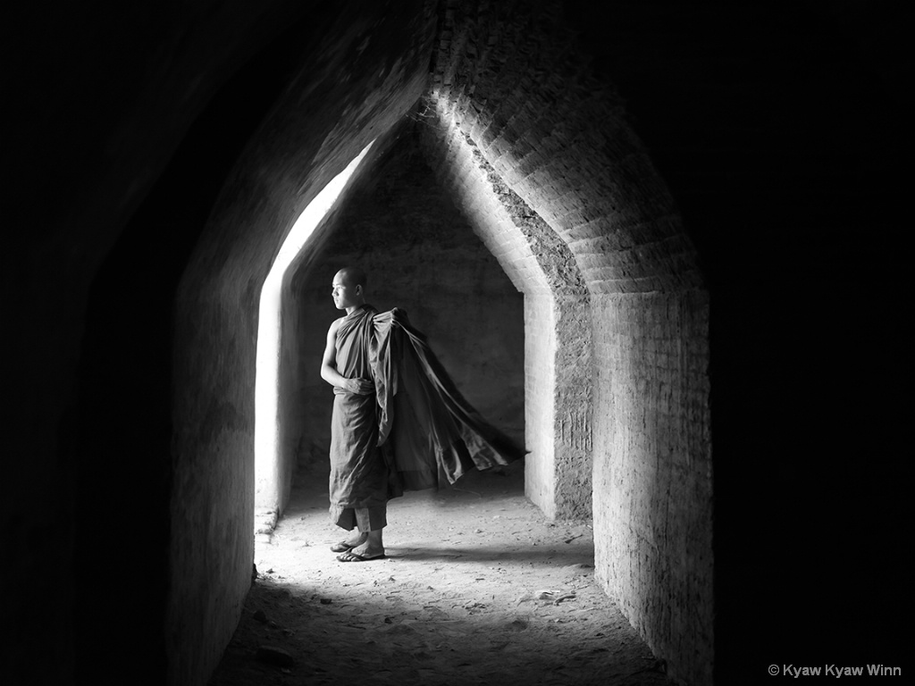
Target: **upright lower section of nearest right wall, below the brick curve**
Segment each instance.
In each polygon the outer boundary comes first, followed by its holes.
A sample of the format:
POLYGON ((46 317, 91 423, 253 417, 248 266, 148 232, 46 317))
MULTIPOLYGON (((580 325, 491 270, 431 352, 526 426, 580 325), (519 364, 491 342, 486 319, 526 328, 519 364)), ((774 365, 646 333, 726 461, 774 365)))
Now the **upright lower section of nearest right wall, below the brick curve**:
POLYGON ((714 619, 708 296, 600 295, 593 314, 597 578, 657 655, 711 683, 694 652, 714 619))

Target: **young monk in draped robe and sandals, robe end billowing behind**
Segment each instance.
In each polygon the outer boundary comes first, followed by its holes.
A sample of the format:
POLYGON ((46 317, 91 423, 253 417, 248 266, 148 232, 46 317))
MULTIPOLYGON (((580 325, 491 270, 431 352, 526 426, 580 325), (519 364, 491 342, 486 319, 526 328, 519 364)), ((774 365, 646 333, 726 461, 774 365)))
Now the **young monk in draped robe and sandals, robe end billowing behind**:
POLYGON ((404 490, 524 456, 464 400, 403 310, 379 313, 365 289, 361 269, 334 276, 334 305, 346 316, 328 328, 321 359, 321 378, 334 387, 330 518, 352 531, 330 548, 343 563, 384 557, 387 502, 404 490))

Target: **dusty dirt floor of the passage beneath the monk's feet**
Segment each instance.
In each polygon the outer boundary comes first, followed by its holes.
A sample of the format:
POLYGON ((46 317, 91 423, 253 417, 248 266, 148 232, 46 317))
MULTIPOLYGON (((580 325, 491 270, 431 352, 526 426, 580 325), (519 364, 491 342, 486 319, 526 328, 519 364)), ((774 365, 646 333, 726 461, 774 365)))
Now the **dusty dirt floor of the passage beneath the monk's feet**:
POLYGON ((299 481, 210 686, 672 683, 595 582, 590 522, 545 520, 522 465, 393 500, 365 563, 328 550, 326 474, 299 481))

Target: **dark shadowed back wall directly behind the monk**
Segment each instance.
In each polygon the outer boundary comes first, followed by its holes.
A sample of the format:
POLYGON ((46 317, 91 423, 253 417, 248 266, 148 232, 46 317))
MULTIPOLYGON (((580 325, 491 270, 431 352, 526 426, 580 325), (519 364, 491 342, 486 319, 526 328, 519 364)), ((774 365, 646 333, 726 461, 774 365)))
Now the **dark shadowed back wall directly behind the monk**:
POLYGON ((318 370, 328 326, 342 315, 330 284, 351 264, 369 274, 369 302, 380 311, 404 309, 468 402, 523 443, 522 295, 416 145, 414 127, 404 127, 332 220, 327 243, 303 256, 291 284, 298 326, 284 338, 295 348, 297 370, 286 369, 296 373, 297 391, 285 415, 299 436, 300 467, 327 464, 333 399, 318 370))

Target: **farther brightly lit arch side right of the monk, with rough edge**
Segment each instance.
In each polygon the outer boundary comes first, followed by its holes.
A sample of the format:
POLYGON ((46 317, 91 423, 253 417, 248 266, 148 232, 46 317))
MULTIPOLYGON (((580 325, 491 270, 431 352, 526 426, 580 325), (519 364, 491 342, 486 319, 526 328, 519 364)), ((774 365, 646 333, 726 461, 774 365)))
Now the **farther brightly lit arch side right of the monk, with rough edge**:
POLYGON ((436 174, 525 294, 526 492, 557 519, 590 516, 587 289, 565 242, 502 180, 448 103, 425 113, 436 174))

